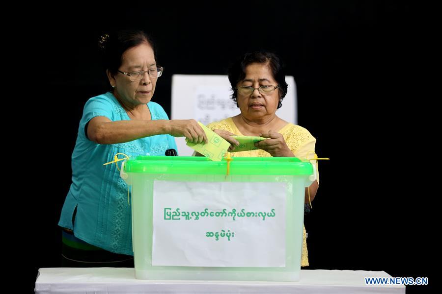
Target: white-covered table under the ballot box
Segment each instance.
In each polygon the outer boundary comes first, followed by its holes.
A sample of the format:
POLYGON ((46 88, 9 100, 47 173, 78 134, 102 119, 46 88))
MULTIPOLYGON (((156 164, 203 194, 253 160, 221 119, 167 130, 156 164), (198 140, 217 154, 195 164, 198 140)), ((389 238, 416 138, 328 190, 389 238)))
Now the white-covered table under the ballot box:
POLYGON ((137 280, 128 268, 40 269, 37 294, 82 293, 405 293, 404 285, 365 285, 385 271, 301 270, 298 282, 137 280))

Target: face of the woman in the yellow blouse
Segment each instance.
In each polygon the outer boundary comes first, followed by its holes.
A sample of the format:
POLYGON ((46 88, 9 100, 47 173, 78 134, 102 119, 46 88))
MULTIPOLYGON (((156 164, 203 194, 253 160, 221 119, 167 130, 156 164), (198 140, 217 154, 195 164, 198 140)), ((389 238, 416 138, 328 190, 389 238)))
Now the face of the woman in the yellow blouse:
MULTIPOLYGON (((277 86, 268 64, 251 63, 246 67, 245 78, 236 86, 250 86, 256 89, 266 85, 277 86)), ((278 89, 264 94, 260 93, 257 89, 253 90, 249 95, 242 95, 239 92, 237 98, 238 106, 245 118, 253 121, 275 115, 279 101, 278 89)))

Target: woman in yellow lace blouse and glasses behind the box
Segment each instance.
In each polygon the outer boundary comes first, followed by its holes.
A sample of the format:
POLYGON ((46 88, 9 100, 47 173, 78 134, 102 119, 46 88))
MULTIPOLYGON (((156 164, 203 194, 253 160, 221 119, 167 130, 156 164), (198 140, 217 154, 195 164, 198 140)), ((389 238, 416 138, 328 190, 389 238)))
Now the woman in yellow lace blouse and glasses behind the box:
MULTIPOLYGON (((241 110, 237 116, 207 127, 231 143, 230 151, 239 145, 231 136, 261 136, 269 138, 255 143, 258 149, 234 152, 232 156, 286 156, 306 158, 314 152, 316 139, 302 126, 288 123, 276 115, 287 94, 285 73, 278 56, 269 52, 252 52, 243 55, 229 69, 233 100, 241 110)), ((317 171, 316 171, 317 172, 317 171)), ((319 178, 318 178, 319 179, 319 178)), ((318 181, 305 189, 312 200, 318 189, 318 181)), ((306 234, 304 229, 301 266, 308 266, 306 234)))

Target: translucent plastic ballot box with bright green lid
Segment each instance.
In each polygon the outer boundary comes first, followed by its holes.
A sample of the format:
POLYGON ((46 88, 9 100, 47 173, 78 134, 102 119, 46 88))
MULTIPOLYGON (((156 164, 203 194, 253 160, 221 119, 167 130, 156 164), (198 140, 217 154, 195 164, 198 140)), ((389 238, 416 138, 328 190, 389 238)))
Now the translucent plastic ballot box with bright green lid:
MULTIPOLYGON (((301 270, 304 191, 314 180, 313 166, 296 157, 138 156, 122 165, 121 177, 132 186, 132 237, 137 279, 297 281, 301 270), (153 191, 157 181, 284 182, 285 267, 153 266, 153 191)), ((266 252, 261 254, 265 255, 266 252)))

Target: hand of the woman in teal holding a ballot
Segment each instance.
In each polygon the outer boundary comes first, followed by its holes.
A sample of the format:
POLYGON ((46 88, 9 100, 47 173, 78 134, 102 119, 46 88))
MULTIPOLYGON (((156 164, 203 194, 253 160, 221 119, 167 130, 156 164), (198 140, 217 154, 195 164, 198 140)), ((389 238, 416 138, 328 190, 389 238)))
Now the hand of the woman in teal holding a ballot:
POLYGON ((170 120, 168 133, 173 137, 186 137, 191 143, 208 143, 206 133, 195 120, 170 120))

